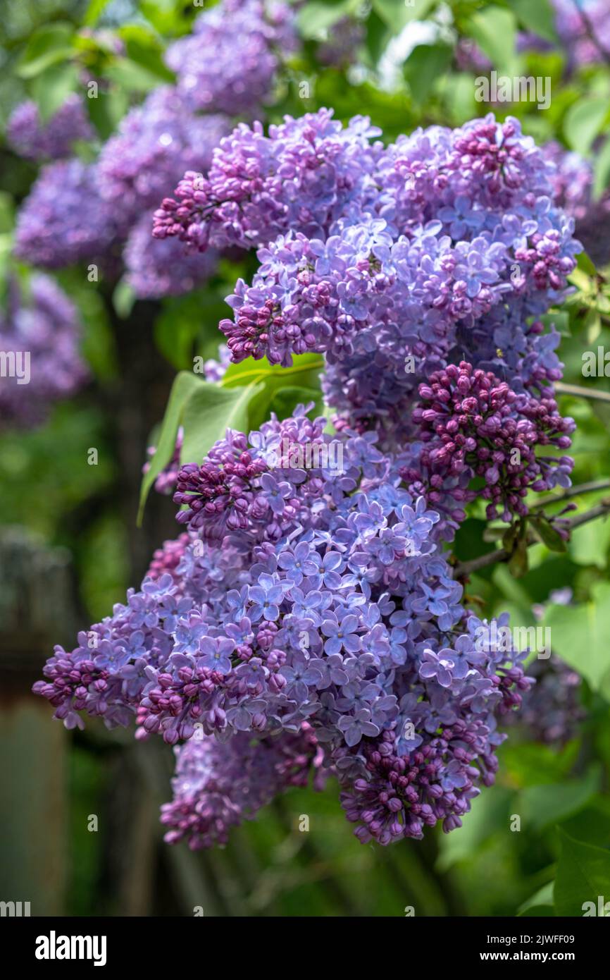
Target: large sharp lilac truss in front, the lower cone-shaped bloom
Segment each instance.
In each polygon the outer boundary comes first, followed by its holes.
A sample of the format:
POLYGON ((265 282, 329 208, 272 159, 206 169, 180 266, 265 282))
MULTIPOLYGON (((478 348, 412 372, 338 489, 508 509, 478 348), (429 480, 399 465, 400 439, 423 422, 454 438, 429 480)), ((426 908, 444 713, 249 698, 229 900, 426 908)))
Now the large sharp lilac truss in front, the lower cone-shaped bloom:
POLYGON ((227 430, 182 466, 187 530, 35 685, 69 727, 79 711, 111 726, 135 715, 141 737, 189 740, 169 840, 223 841, 258 767, 253 809, 286 773, 323 767, 362 841, 450 830, 493 781, 497 717, 528 689, 521 655, 478 643, 433 538, 438 513, 374 435, 333 440, 324 423, 301 407, 249 437, 227 430), (225 775, 240 767, 232 796, 225 775))

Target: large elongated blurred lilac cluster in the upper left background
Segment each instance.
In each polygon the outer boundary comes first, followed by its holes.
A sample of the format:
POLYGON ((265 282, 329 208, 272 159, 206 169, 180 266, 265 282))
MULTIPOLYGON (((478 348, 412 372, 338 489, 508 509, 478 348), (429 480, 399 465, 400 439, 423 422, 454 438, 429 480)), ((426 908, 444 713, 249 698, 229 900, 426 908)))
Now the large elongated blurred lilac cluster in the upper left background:
POLYGON ((231 117, 260 111, 281 58, 295 48, 293 22, 288 7, 261 0, 224 0, 203 13, 195 32, 167 51, 176 84, 130 109, 93 164, 70 157, 74 141, 94 136, 76 96, 45 125, 33 103, 19 106, 8 132, 18 152, 69 158, 44 168, 23 203, 19 258, 45 269, 93 262, 113 280, 124 269, 136 295, 148 299, 208 281, 215 252, 152 238, 151 212, 185 171, 210 167, 231 117))

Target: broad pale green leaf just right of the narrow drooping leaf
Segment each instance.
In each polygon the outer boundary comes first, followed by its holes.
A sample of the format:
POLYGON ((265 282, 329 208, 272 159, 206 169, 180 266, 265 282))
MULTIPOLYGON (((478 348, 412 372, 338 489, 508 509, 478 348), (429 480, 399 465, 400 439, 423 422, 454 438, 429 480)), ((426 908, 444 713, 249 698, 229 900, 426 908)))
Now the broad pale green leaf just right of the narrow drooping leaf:
POLYGON ((180 461, 201 463, 214 442, 224 437, 227 428, 248 432, 248 406, 260 388, 256 382, 245 388, 225 389, 200 381, 188 395, 182 411, 184 440, 180 461))

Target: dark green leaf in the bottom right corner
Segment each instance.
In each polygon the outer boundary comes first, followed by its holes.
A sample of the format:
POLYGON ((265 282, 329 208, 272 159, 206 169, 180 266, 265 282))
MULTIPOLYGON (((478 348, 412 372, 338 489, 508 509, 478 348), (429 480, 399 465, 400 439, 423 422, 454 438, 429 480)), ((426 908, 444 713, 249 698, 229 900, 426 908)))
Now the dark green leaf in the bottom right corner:
POLYGON ((597 908, 610 897, 610 851, 576 841, 559 828, 561 853, 555 879, 557 915, 583 915, 585 903, 597 908))

